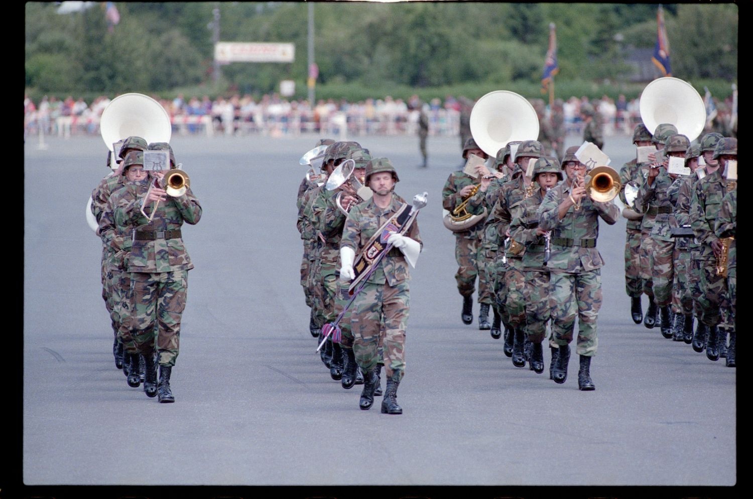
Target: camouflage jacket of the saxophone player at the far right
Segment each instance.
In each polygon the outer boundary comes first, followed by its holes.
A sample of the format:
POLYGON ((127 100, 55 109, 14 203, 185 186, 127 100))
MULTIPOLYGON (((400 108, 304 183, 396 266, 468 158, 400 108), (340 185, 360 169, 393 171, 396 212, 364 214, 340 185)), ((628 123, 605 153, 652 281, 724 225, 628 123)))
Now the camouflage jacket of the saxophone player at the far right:
POLYGON ((727 193, 721 169, 706 175, 696 182, 690 207, 691 227, 700 244, 697 260, 716 260, 712 242, 719 239, 714 224, 721 207, 721 199, 727 193))

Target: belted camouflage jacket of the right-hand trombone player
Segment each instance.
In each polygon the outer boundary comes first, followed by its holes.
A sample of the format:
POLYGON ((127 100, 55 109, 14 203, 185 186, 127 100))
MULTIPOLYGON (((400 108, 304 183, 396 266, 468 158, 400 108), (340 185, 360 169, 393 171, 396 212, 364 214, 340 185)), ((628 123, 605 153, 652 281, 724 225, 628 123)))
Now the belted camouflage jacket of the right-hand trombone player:
POLYGON ((561 182, 544 196, 538 208, 539 226, 552 231, 547 267, 576 274, 600 269, 604 260, 595 245, 599 237, 599 217, 612 225, 617 222, 620 210, 614 201, 595 202, 589 196, 583 196, 581 208, 575 211, 575 207, 571 206, 559 220, 559 204, 569 196, 570 190, 569 182, 561 182), (557 244, 559 238, 572 239, 573 245, 557 244), (593 239, 593 247, 585 247, 584 239, 593 239))

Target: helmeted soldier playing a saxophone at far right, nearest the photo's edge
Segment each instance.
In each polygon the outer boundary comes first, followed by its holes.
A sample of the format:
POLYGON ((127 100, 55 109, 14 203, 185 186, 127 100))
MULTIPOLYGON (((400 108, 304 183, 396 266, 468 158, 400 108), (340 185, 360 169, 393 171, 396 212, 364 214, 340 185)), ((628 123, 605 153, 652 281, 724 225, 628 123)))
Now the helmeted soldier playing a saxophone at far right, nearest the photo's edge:
POLYGON ((709 327, 709 339, 706 343, 706 357, 717 361, 721 345, 727 347, 727 333, 734 332, 730 315, 730 297, 724 276, 716 269, 723 254, 721 239, 714 232, 721 200, 727 193, 727 182, 722 176, 727 161, 737 160, 737 139, 725 137, 718 141, 713 159, 718 165, 712 172, 701 178, 691 200, 691 226, 700 242, 698 260, 701 260, 701 321, 709 327))

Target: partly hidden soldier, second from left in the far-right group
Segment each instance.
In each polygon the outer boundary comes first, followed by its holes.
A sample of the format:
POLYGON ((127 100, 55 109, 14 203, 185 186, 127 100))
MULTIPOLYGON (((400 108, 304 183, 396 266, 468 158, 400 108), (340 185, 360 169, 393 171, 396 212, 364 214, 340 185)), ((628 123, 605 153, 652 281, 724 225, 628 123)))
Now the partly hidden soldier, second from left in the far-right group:
MULTIPOLYGON (((664 142, 669 135, 677 133, 677 128, 671 123, 661 123, 654 130, 654 135, 651 136, 651 142, 657 148, 656 156, 660 154, 659 151, 664 147, 664 142)), ((651 155, 649 154, 649 160, 651 155)), ((649 165, 651 163, 641 163, 636 169, 633 177, 633 184, 640 187, 645 178, 648 177, 649 165)), ((656 325, 657 316, 659 315, 659 309, 657 307, 654 297, 654 239, 651 238, 651 230, 654 228, 654 220, 657 218, 657 214, 669 213, 672 211, 671 206, 665 206, 658 208, 654 203, 648 205, 640 205, 636 198, 637 211, 643 213, 643 220, 641 221, 641 247, 639 252, 639 258, 641 261, 641 278, 643 281, 643 292, 648 295, 648 310, 643 318, 643 325, 651 329, 656 325)))

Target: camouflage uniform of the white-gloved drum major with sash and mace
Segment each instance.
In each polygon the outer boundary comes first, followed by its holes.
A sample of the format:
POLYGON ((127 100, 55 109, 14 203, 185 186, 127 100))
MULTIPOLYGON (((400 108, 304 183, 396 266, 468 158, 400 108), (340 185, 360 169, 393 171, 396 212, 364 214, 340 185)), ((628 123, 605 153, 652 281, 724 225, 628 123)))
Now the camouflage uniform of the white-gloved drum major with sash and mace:
MULTIPOLYGON (((403 203, 393 194, 392 203, 384 210, 369 199, 353 206, 343 229, 341 244, 358 253, 371 236, 401 208, 403 203)), ((417 221, 406 236, 422 245, 417 221)), ((351 328, 355 336, 353 352, 364 373, 385 361, 388 378, 400 382, 405 373, 405 330, 410 307, 410 272, 399 249, 392 248, 369 276, 352 306, 351 328), (377 351, 377 342, 384 322, 384 354, 377 351)))

